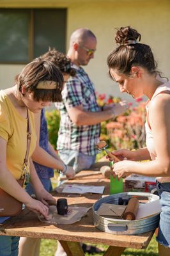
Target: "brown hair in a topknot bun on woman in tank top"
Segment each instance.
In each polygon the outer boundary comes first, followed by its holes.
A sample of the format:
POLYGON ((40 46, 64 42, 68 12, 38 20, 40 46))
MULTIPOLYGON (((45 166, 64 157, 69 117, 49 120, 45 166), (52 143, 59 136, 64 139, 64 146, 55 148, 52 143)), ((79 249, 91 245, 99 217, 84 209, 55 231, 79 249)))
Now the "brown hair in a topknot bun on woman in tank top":
POLYGON ((130 76, 132 66, 139 65, 146 68, 150 74, 162 77, 162 73, 157 70, 150 46, 139 43, 140 40, 141 34, 130 26, 117 29, 115 42, 119 46, 107 57, 109 70, 116 69, 120 74, 130 76))

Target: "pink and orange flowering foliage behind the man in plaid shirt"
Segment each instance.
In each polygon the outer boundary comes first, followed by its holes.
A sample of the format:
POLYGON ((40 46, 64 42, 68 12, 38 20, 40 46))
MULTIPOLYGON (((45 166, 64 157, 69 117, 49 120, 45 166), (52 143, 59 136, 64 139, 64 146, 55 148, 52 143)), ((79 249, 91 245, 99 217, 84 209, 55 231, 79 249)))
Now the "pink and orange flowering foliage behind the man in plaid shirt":
MULTIPOLYGON (((97 102, 99 106, 105 104, 115 104, 120 102, 120 97, 97 94, 97 102)), ((56 148, 58 140, 59 111, 54 109, 45 113, 47 118, 49 141, 56 148)), ((145 147, 145 130, 144 122, 146 120, 145 103, 143 99, 136 100, 136 106, 129 103, 129 108, 123 115, 118 116, 114 120, 107 120, 101 123, 100 140, 105 140, 109 148, 117 150, 119 148, 137 149, 145 147)))

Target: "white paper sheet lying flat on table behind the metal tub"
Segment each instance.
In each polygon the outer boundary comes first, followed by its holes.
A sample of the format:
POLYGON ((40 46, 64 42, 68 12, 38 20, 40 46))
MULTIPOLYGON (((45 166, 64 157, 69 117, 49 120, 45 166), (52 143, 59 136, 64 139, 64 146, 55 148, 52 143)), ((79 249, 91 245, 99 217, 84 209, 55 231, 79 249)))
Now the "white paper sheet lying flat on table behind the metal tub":
POLYGON ((95 193, 102 194, 104 192, 104 186, 81 186, 79 184, 69 184, 63 188, 62 193, 69 194, 84 194, 95 193))

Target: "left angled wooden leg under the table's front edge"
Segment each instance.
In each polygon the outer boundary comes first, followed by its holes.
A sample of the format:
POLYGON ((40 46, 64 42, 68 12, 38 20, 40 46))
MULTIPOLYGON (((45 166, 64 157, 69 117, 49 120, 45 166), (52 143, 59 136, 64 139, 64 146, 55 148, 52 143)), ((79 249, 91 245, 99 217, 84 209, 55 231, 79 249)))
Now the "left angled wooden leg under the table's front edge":
POLYGON ((59 241, 59 243, 63 246, 67 256, 84 256, 80 243, 70 241, 59 241))

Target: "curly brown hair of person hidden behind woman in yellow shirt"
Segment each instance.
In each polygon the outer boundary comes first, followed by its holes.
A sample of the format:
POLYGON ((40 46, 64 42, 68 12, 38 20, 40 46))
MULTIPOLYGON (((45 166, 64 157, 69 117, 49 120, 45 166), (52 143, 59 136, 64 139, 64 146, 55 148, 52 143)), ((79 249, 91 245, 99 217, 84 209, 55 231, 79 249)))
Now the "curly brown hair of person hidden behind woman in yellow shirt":
POLYGON ((70 76, 75 76, 76 71, 71 67, 70 58, 66 57, 63 52, 57 51, 55 48, 51 49, 49 47, 49 51, 45 52, 42 56, 40 56, 43 60, 52 61, 62 73, 68 74, 70 76))

